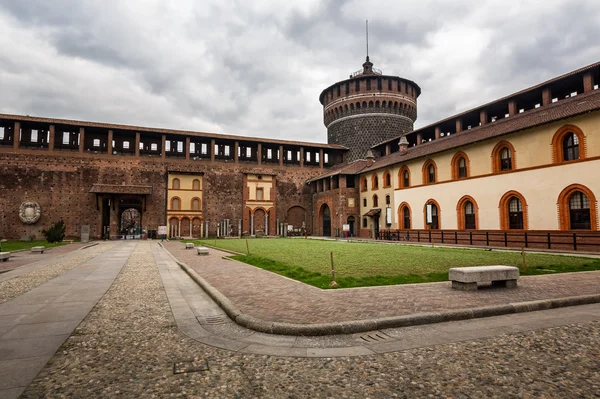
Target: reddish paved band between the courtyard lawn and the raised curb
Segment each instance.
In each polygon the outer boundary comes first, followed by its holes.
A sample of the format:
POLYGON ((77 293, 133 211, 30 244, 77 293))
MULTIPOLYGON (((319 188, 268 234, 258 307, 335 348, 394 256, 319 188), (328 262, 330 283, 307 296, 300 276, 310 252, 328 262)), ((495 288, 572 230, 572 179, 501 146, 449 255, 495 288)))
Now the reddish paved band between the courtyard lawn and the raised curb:
POLYGON ((437 310, 473 308, 600 293, 600 272, 527 276, 517 289, 458 291, 450 282, 321 290, 244 263, 211 249, 198 256, 180 242, 164 243, 228 297, 240 311, 265 321, 310 324, 375 319, 437 310))

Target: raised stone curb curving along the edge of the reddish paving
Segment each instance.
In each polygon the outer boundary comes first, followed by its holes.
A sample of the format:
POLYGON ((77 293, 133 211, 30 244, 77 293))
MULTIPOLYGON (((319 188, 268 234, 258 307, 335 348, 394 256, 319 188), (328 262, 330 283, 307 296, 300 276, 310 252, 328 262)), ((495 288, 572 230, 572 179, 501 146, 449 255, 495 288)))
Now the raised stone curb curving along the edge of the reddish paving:
MULTIPOLYGON (((162 245, 161 245, 162 247, 162 245)), ((294 324, 268 322, 242 313, 220 291, 210 285, 192 268, 177 260, 166 248, 163 249, 171 258, 202 288, 235 323, 248 329, 278 335, 323 336, 338 334, 355 334, 386 328, 409 327, 424 324, 443 323, 513 313, 534 312, 562 308, 567 306, 600 303, 600 294, 571 296, 565 298, 542 299, 529 302, 515 302, 501 305, 489 305, 469 309, 444 310, 439 312, 416 313, 402 316, 391 316, 379 319, 352 320, 335 323, 294 324)))

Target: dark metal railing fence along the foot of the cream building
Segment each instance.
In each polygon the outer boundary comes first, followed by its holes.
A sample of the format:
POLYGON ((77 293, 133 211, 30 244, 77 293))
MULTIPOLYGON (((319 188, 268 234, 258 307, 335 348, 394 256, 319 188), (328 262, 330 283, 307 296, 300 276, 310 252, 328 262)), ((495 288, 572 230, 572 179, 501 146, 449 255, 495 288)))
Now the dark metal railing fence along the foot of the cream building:
POLYGON ((595 231, 381 230, 375 239, 486 247, 600 251, 600 232, 595 231))

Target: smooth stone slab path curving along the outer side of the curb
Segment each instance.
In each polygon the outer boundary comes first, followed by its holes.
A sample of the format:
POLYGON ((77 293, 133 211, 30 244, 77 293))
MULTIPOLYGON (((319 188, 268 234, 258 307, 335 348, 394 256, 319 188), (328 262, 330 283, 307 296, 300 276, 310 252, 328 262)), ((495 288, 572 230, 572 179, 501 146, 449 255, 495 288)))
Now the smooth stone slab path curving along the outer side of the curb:
MULTIPOLYGON (((154 246, 152 252, 179 330, 207 345, 239 353, 293 357, 373 355, 600 320, 600 304, 591 304, 356 334, 318 337, 264 334, 232 322, 164 249, 154 246)), ((206 256, 198 258, 201 263, 208 261, 206 256)), ((286 307, 282 302, 278 305, 286 307)))

